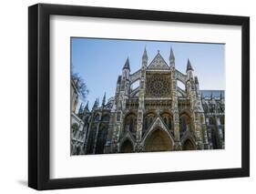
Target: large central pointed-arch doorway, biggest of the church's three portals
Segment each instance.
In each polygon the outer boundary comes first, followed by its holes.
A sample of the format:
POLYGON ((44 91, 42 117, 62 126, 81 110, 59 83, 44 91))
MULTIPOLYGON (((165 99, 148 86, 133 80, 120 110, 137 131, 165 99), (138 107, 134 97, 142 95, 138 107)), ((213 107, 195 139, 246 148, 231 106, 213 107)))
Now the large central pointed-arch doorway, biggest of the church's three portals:
POLYGON ((145 151, 170 151, 172 141, 167 132, 157 129, 153 131, 145 141, 145 151))

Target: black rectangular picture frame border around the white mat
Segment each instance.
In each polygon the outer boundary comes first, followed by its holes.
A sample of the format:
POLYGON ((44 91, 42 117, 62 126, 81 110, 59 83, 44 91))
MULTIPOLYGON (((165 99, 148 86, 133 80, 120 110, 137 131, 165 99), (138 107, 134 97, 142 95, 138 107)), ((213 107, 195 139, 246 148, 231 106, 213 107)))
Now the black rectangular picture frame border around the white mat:
POLYGON ((68 189, 180 180, 250 176, 250 18, 78 5, 37 4, 28 7, 28 186, 68 189), (50 179, 50 15, 241 26, 241 168, 205 169, 118 176, 50 179))

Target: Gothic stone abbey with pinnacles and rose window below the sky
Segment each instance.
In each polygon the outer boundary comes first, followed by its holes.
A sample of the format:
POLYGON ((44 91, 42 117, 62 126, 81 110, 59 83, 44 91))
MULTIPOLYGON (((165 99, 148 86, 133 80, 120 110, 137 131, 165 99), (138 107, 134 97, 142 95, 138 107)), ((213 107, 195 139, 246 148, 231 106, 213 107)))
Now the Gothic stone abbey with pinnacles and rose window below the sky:
POLYGON ((127 59, 115 96, 77 113, 71 80, 71 155, 224 148, 223 90, 200 90, 189 59, 183 74, 172 49, 167 63, 159 51, 149 62, 145 48, 140 66, 131 73, 127 59))

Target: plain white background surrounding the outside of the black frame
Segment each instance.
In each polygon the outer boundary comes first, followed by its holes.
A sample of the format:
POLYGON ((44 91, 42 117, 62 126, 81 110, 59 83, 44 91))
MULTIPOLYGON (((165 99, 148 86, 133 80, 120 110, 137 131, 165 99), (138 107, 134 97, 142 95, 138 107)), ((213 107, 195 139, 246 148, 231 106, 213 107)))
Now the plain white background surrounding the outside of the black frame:
MULTIPOLYGON (((247 15, 251 16, 251 120, 256 116, 256 12, 253 1, 204 1, 204 0, 158 0, 158 1, 83 1, 41 0, 41 3, 113 6, 122 8, 155 9, 177 12, 247 15)), ((38 3, 34 0, 1 2, 0 17, 0 83, 1 83, 1 193, 35 193, 26 187, 27 179, 27 6, 38 3)), ((231 73, 231 72, 227 72, 231 73)), ((256 190, 256 132, 251 123, 251 178, 183 181, 172 183, 132 186, 101 187, 92 189, 52 190, 46 193, 252 193, 256 190), (254 140, 254 141, 253 141, 254 140)))

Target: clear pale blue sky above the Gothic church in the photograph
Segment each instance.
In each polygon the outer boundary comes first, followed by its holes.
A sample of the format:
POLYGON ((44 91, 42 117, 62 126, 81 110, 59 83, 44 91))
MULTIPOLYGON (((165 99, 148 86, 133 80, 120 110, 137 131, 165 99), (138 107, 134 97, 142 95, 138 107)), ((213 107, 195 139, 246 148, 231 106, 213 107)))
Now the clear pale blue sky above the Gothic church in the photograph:
POLYGON ((74 72, 83 77, 87 84, 90 108, 97 97, 101 103, 105 92, 107 98, 115 95, 118 75, 121 75, 127 58, 131 73, 140 68, 145 46, 148 64, 157 55, 158 50, 169 64, 169 50, 172 47, 176 68, 185 74, 189 58, 194 75, 199 78, 200 89, 225 89, 223 44, 72 37, 71 63, 74 72))

